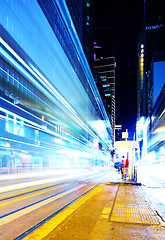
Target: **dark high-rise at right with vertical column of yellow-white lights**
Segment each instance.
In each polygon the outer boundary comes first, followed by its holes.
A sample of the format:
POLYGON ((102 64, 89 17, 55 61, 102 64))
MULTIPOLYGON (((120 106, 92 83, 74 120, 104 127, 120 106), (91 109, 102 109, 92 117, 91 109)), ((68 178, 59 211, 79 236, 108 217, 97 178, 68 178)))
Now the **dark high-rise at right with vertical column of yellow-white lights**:
POLYGON ((147 86, 154 52, 165 49, 164 11, 163 0, 144 0, 144 22, 138 47, 138 118, 148 115, 147 86))

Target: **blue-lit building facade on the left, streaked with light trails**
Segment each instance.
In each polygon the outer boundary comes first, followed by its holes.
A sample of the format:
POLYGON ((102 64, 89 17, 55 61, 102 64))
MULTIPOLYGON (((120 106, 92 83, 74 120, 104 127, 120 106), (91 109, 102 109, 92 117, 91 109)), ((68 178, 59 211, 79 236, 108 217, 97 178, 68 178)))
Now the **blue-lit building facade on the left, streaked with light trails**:
POLYGON ((108 164, 111 126, 66 2, 2 0, 0 15, 1 171, 108 164))

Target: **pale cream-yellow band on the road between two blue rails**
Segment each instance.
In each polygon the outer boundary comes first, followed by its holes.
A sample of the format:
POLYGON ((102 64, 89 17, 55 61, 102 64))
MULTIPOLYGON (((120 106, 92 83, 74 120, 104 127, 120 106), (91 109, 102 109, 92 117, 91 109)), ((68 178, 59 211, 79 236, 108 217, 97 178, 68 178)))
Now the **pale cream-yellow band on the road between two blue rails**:
POLYGON ((78 190, 78 189, 80 189, 80 188, 82 188, 82 187, 84 187, 84 186, 86 186, 86 184, 82 184, 82 185, 77 186, 77 187, 75 187, 75 188, 72 188, 72 189, 70 189, 70 190, 68 190, 68 191, 65 191, 65 192, 63 192, 63 193, 60 193, 60 194, 58 194, 57 196, 54 196, 54 197, 49 198, 49 199, 46 199, 45 201, 36 203, 36 204, 34 204, 34 205, 30 206, 30 207, 24 208, 24 209, 22 209, 22 210, 20 210, 20 211, 18 211, 18 212, 15 212, 15 213, 10 214, 10 215, 8 215, 8 216, 6 216, 6 217, 3 217, 3 218, 0 219, 0 226, 6 224, 6 223, 8 223, 8 222, 11 222, 11 221, 13 221, 13 220, 15 220, 15 219, 17 219, 17 218, 19 218, 19 217, 22 217, 22 216, 24 216, 25 214, 28 214, 29 212, 32 212, 32 211, 34 211, 34 210, 36 210, 36 209, 38 209, 38 208, 40 208, 40 207, 43 207, 43 206, 45 206, 46 204, 49 204, 49 203, 51 203, 51 202, 53 202, 53 201, 55 201, 55 200, 57 200, 57 199, 59 199, 59 198, 61 198, 61 197, 64 197, 64 196, 66 196, 67 194, 72 193, 72 192, 74 192, 74 191, 76 191, 76 190, 78 190))

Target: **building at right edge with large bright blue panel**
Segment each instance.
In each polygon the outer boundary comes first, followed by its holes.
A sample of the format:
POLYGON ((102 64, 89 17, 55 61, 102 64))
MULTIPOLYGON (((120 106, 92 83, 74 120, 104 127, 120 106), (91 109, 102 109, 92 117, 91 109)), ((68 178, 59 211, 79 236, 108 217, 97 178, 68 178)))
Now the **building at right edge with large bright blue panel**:
POLYGON ((147 80, 147 149, 165 156, 165 50, 154 52, 147 80))

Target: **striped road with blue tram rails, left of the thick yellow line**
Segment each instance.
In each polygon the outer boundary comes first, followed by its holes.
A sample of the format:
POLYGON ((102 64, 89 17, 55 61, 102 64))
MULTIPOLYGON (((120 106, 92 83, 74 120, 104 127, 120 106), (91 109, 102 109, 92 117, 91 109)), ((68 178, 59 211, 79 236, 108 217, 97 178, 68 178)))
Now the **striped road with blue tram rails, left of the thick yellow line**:
POLYGON ((0 239, 22 239, 82 195, 106 183, 109 171, 70 169, 0 176, 0 239), (20 236, 20 237, 19 237, 20 236))

